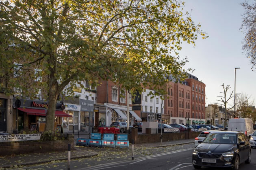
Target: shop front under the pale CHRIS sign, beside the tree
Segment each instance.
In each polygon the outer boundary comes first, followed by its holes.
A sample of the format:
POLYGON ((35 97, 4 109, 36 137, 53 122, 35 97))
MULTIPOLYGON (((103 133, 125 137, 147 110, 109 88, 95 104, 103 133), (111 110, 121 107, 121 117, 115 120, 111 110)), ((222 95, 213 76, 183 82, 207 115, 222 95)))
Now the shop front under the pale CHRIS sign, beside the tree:
POLYGON ((78 132, 79 130, 79 115, 81 106, 78 104, 64 103, 65 113, 70 117, 63 117, 63 127, 67 128, 68 132, 78 132))

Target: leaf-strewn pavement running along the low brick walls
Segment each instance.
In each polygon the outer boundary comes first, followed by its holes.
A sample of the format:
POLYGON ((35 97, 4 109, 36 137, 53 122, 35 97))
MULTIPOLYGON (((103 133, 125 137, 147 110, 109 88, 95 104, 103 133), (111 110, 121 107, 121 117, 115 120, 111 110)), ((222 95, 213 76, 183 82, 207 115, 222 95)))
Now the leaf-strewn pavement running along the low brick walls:
MULTIPOLYGON (((156 142, 156 143, 143 143, 135 144, 136 148, 148 147, 168 147, 182 144, 191 144, 194 139, 189 140, 175 140, 156 142)), ((131 146, 131 145, 130 145, 131 146)), ((89 158, 98 155, 99 150, 91 150, 91 147, 74 147, 71 151, 71 159, 89 158), (89 151, 88 151, 89 150, 89 151)), ((28 153, 20 155, 0 156, 0 170, 3 168, 17 168, 21 166, 30 166, 36 164, 43 164, 48 162, 57 162, 67 160, 67 151, 48 152, 48 153, 28 153)))

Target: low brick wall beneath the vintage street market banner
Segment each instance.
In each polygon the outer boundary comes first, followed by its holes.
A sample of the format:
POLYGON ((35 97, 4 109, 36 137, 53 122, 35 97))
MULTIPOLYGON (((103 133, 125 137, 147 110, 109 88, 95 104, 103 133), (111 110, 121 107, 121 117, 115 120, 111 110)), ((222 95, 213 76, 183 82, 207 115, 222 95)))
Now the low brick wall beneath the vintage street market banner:
POLYGON ((53 140, 44 142, 4 142, 0 144, 0 155, 42 153, 49 151, 65 151, 68 144, 74 149, 74 135, 68 135, 66 140, 53 140))

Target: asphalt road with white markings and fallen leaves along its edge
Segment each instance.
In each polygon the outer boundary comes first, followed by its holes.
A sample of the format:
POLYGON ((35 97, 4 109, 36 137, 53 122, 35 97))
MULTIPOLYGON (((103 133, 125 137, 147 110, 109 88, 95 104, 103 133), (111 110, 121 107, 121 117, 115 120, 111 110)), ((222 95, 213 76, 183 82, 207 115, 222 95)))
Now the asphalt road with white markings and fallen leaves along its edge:
MULTIPOLYGON (((131 149, 98 150, 104 154, 87 158, 76 159, 71 162, 71 170, 194 170, 192 162, 193 144, 161 148, 136 148, 135 159, 131 160, 131 149)), ((251 164, 240 165, 239 170, 256 169, 256 149, 252 149, 251 164)), ((37 166, 18 169, 54 169, 66 170, 67 161, 52 162, 37 166)), ((205 168, 214 170, 215 168, 205 168)), ((218 169, 220 170, 220 169, 218 169)))

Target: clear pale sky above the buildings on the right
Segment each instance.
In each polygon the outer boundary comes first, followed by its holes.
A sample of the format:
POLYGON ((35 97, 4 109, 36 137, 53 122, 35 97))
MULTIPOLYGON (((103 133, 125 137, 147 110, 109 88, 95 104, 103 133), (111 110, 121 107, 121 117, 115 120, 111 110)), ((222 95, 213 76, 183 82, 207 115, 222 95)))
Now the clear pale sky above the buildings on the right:
MULTIPOLYGON (((196 40, 196 45, 182 45, 180 57, 187 56, 185 68, 193 68, 199 81, 206 85, 206 105, 216 103, 222 96, 221 84, 230 85, 228 94, 234 90, 234 68, 236 70, 236 94, 244 93, 256 98, 256 72, 251 70, 249 59, 242 50, 244 33, 239 30, 245 11, 243 0, 184 0, 186 11, 209 38, 196 40), (191 11, 192 9, 192 11, 191 11)), ((252 2, 252 0, 249 0, 252 2)), ((255 102, 254 102, 255 103, 255 102)), ((234 104, 234 98, 229 104, 234 104)))

